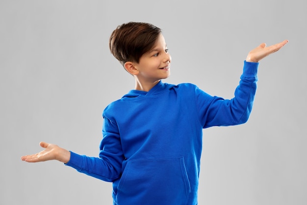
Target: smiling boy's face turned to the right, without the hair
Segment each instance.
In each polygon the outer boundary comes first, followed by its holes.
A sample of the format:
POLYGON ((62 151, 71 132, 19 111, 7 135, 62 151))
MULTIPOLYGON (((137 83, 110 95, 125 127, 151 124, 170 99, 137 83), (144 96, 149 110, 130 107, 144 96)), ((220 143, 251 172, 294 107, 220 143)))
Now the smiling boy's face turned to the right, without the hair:
POLYGON ((162 34, 159 35, 153 48, 142 55, 139 63, 133 63, 137 69, 135 77, 141 83, 154 83, 170 76, 171 55, 168 53, 162 34))

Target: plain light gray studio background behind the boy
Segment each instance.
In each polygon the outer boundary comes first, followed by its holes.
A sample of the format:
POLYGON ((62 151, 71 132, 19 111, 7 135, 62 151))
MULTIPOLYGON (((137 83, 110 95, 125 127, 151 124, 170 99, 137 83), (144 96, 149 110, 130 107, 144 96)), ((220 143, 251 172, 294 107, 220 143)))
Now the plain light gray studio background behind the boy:
POLYGON ((306 0, 0 0, 0 204, 111 205, 111 183, 20 156, 40 141, 97 156, 102 111, 134 88, 108 50, 117 25, 163 29, 164 82, 233 96, 248 52, 263 59, 250 120, 204 130, 200 205, 306 205, 306 0))

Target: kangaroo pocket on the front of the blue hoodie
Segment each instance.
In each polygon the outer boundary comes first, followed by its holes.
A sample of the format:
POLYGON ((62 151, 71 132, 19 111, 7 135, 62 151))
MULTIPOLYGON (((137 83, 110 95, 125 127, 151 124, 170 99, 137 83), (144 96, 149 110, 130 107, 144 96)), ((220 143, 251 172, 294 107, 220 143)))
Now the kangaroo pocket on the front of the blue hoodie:
POLYGON ((183 157, 128 161, 117 205, 186 205, 190 183, 183 157))

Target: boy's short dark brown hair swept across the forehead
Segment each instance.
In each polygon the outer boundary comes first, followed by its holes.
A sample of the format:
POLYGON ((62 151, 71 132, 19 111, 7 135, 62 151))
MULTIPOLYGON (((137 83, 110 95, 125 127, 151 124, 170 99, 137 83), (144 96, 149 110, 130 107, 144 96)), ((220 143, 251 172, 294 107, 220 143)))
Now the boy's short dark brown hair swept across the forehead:
POLYGON ((127 61, 139 62, 150 51, 161 29, 148 23, 128 22, 118 26, 111 34, 109 48, 122 65, 127 61))

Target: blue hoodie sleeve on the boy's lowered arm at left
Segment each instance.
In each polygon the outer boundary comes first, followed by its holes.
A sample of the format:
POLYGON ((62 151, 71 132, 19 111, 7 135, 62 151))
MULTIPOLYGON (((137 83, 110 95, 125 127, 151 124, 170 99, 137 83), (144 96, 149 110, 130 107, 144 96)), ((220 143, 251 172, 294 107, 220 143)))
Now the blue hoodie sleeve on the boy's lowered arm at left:
POLYGON ((103 116, 103 139, 99 157, 79 155, 71 151, 71 159, 65 164, 78 172, 112 182, 121 175, 124 155, 116 123, 103 116))

